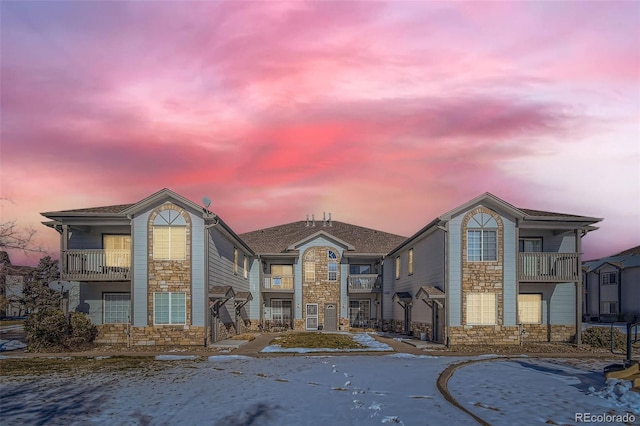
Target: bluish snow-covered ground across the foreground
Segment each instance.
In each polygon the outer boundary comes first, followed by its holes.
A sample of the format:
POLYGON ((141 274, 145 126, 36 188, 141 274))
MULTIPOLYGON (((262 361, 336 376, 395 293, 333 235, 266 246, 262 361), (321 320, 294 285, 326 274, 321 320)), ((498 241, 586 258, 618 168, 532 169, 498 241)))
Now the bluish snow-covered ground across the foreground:
MULTIPOLYGON (((477 424, 436 388, 440 372, 461 358, 394 353, 158 359, 167 368, 157 372, 3 377, 0 419, 3 425, 477 424)), ((449 390, 491 424, 576 424, 575 413, 633 413, 635 423, 640 420, 634 405, 640 395, 604 386, 606 362, 474 359, 481 362, 456 370, 449 390)))

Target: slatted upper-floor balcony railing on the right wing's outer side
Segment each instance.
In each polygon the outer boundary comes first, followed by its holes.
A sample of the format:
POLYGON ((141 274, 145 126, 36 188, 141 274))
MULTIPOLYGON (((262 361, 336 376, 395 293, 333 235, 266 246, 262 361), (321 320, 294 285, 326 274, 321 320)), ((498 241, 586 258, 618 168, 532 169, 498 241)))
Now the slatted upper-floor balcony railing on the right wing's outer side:
POLYGON ((580 281, 578 253, 518 253, 518 281, 580 281))

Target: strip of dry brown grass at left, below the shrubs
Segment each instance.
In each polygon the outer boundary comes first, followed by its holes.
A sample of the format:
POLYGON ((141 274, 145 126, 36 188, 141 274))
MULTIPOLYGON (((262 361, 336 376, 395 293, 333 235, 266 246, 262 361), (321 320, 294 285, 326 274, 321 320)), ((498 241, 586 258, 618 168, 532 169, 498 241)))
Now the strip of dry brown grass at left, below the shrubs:
MULTIPOLYGON (((194 361, 191 361, 194 362, 194 361)), ((128 370, 161 371, 172 363, 154 357, 37 357, 0 360, 0 376, 42 376, 51 374, 112 373, 128 370)))

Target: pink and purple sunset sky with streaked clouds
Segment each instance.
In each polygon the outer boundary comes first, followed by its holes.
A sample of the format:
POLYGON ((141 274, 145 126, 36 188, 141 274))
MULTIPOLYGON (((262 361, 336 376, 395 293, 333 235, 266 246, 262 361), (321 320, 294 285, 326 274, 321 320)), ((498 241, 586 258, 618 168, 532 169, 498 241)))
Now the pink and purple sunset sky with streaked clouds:
MULTIPOLYGON (((640 2, 2 1, 2 221, 164 188, 242 233, 491 192, 640 244, 640 2)), ((37 262, 12 253, 14 263, 37 262)))

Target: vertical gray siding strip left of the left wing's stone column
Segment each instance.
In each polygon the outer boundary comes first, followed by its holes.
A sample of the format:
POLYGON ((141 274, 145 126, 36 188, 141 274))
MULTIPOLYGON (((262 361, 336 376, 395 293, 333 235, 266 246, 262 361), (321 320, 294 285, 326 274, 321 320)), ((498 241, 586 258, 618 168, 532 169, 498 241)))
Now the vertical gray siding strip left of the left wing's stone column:
POLYGON ((147 225, 151 212, 145 212, 133 219, 132 245, 133 245, 133 294, 132 298, 132 322, 136 327, 148 325, 147 288, 148 271, 147 261, 149 256, 147 241, 147 225))

